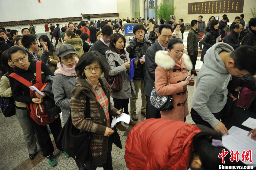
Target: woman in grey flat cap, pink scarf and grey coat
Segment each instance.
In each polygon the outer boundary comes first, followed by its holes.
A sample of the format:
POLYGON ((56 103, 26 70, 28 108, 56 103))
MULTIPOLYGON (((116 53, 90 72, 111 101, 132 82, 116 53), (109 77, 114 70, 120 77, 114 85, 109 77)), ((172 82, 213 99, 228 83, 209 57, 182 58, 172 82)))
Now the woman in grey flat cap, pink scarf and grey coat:
POLYGON ((70 114, 71 90, 75 87, 77 73, 75 66, 78 58, 75 57, 75 48, 71 44, 63 44, 56 50, 56 55, 60 62, 57 64, 58 69, 54 72, 53 94, 54 101, 60 107, 64 124, 70 114))

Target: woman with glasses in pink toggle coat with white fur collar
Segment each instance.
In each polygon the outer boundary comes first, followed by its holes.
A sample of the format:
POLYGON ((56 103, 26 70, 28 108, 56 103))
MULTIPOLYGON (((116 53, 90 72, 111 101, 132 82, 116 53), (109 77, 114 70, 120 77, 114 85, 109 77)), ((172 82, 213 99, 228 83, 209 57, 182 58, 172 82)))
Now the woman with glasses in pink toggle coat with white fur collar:
POLYGON ((181 39, 172 38, 167 42, 167 51, 156 52, 155 62, 158 65, 155 73, 156 92, 159 95, 173 96, 173 109, 160 111, 161 118, 186 121, 188 115, 187 85, 194 86, 194 77, 186 78, 193 65, 184 51, 181 39))

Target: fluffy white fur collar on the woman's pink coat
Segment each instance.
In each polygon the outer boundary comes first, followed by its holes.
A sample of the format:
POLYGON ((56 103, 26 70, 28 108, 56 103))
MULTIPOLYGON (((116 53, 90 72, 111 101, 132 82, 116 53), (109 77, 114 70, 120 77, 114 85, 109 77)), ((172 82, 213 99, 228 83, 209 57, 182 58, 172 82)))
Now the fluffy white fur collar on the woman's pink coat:
MULTIPOLYGON (((191 70, 193 68, 193 64, 187 54, 183 54, 181 60, 184 61, 187 70, 191 70)), ((163 69, 172 69, 175 66, 175 61, 170 57, 168 52, 164 50, 156 52, 155 62, 163 69)))

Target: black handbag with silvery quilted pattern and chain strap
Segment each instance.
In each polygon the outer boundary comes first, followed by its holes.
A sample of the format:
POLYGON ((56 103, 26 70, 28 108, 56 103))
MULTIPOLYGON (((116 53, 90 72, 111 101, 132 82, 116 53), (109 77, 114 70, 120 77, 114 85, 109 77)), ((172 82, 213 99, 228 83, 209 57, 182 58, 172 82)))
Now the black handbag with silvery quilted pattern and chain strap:
MULTIPOLYGON (((170 84, 169 70, 167 70, 167 72, 168 72, 168 78, 169 78, 169 84, 170 84)), ((173 97, 172 95, 161 96, 157 94, 155 83, 154 83, 153 90, 151 91, 151 94, 150 94, 150 106, 159 111, 172 110, 173 97)))

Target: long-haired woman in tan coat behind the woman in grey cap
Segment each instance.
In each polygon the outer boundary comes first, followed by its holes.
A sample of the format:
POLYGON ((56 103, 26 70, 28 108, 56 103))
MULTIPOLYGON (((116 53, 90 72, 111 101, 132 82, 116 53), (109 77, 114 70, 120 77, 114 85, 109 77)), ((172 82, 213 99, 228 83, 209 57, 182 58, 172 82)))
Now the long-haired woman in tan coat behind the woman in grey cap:
POLYGON ((44 53, 45 48, 47 46, 48 51, 50 52, 50 55, 48 57, 46 65, 50 67, 51 71, 54 73, 55 70, 57 70, 57 63, 60 62, 59 57, 55 54, 56 48, 53 44, 51 44, 50 39, 47 35, 41 35, 38 39, 40 42, 40 48, 38 49, 38 55, 41 57, 41 55, 44 53))

